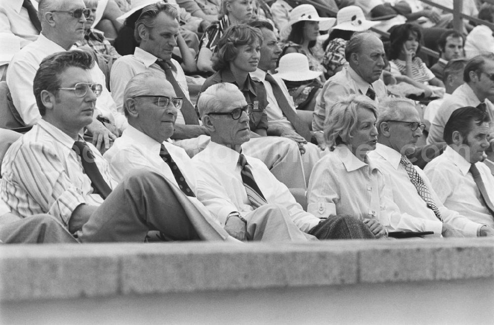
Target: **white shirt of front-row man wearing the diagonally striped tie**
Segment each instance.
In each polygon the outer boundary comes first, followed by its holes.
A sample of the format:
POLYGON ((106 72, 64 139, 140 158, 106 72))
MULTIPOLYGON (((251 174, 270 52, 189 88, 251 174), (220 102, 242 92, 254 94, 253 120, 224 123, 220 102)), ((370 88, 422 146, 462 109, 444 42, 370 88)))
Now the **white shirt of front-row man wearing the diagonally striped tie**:
MULTIPOLYGON (((262 161, 248 157, 252 175, 268 203, 277 203, 287 208, 291 220, 303 232, 309 231, 321 219, 305 212, 287 186, 271 174, 262 161)), ((213 143, 192 158, 201 179, 198 180, 198 198, 221 225, 231 212, 246 216, 254 209, 247 198, 242 182, 239 153, 224 145, 213 143)))

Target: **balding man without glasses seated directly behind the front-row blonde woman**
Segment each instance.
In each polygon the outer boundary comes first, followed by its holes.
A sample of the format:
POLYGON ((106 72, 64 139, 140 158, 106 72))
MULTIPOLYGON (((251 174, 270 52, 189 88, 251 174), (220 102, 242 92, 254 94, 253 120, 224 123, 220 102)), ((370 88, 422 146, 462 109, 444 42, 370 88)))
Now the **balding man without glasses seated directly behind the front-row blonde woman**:
POLYGON ((343 68, 324 84, 316 99, 312 130, 324 130, 329 108, 341 97, 360 94, 378 103, 388 96, 384 82, 379 79, 385 56, 381 40, 373 34, 359 33, 350 38, 345 47, 349 67, 343 68))

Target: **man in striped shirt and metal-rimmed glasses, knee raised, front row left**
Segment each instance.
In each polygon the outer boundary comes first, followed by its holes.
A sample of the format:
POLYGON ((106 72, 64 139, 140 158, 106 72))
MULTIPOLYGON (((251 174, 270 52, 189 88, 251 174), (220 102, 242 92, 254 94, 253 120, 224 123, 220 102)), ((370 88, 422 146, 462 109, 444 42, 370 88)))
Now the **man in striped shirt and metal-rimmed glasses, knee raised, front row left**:
MULTIPOLYGON (((49 214, 82 242, 142 242, 149 230, 172 240, 234 240, 187 196, 155 171, 120 181, 108 162, 84 142, 102 85, 83 51, 48 56, 34 79, 41 120, 7 150, 0 195, 20 217, 49 214)), ((135 101, 146 98, 135 99, 135 101)))

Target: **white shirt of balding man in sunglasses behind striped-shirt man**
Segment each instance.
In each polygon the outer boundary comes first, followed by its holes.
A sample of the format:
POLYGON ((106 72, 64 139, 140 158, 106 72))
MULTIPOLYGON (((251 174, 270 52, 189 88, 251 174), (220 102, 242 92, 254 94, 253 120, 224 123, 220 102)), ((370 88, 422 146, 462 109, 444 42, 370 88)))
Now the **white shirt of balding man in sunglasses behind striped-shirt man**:
MULTIPOLYGON (((21 49, 10 62, 7 69, 7 85, 15 108, 26 125, 34 125, 41 118, 33 94, 33 81, 40 68, 41 61, 48 55, 65 51, 63 47, 46 38, 42 33, 35 42, 21 49)), ((106 89, 104 73, 95 64, 90 70, 93 82, 103 85, 103 91, 96 100, 94 115, 101 115, 115 123, 119 130, 127 126, 124 114, 118 113, 113 98, 106 89)))

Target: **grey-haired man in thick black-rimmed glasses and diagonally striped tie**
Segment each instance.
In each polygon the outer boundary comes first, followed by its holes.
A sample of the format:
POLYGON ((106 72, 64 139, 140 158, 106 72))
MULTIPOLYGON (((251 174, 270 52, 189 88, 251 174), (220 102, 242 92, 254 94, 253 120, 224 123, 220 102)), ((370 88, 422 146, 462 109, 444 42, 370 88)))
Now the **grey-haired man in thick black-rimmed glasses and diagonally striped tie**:
POLYGON ((230 235, 255 240, 257 227, 264 225, 271 232, 288 228, 297 238, 307 234, 318 239, 374 237, 353 217, 320 219, 305 212, 266 165, 244 154, 241 144, 250 137, 252 105, 236 85, 210 86, 201 94, 198 108, 211 141, 192 158, 201 175, 197 196, 230 235))

